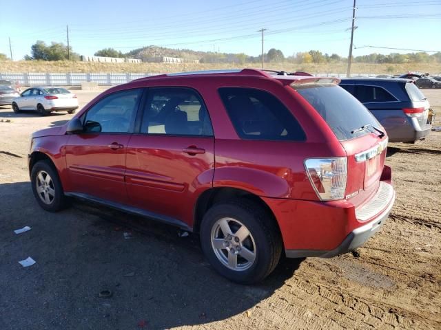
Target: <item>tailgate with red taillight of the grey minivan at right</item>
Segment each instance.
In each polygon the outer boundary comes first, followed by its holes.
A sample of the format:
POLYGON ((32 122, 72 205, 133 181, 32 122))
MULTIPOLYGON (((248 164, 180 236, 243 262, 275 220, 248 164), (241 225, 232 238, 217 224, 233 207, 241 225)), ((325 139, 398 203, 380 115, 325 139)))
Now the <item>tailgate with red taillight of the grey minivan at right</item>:
POLYGON ((427 125, 430 109, 429 101, 424 94, 422 94, 422 91, 416 87, 414 81, 407 82, 404 85, 404 89, 412 102, 412 107, 403 109, 403 111, 409 118, 415 118, 415 120, 412 119, 412 121, 418 123, 420 126, 419 130, 422 131, 427 125))

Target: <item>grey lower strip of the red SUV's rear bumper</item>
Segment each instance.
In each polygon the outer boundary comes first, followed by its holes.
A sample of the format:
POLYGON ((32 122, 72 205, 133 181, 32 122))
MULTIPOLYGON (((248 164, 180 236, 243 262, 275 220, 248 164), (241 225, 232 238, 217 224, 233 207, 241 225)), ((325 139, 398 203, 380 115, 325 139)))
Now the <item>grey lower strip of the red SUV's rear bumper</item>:
POLYGON ((391 212, 393 206, 393 201, 395 201, 395 193, 393 194, 393 199, 389 203, 386 210, 365 225, 352 230, 337 248, 333 250, 285 250, 287 258, 303 258, 307 256, 331 258, 333 256, 337 256, 338 254, 356 250, 356 248, 363 245, 368 239, 371 238, 371 236, 382 228, 382 225, 384 225, 384 222, 386 222, 387 217, 389 217, 389 213, 391 212))

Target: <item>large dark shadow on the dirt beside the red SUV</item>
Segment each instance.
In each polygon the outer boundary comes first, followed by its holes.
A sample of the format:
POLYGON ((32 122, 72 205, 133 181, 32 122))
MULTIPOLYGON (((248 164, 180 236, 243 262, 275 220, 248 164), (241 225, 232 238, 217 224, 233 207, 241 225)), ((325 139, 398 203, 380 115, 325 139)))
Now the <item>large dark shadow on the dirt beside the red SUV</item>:
POLYGON ((263 283, 237 285, 205 261, 196 234, 168 225, 80 201, 45 212, 29 182, 0 184, 0 209, 0 292, 8 301, 0 303, 2 329, 134 329, 143 322, 168 329, 246 318, 260 313, 253 307, 302 261, 283 259, 263 283), (32 230, 13 234, 24 225, 32 230), (21 267, 27 256, 37 264, 21 267), (111 297, 99 298, 103 290, 111 297))

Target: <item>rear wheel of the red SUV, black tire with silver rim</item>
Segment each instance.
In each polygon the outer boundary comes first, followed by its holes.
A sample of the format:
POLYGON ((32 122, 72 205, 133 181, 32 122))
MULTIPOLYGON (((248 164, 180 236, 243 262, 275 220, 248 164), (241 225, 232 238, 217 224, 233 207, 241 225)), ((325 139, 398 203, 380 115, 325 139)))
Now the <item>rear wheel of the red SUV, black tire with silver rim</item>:
POLYGON ((247 199, 218 203, 201 223, 202 250, 214 269, 231 281, 263 281, 282 254, 282 239, 272 215, 247 199))

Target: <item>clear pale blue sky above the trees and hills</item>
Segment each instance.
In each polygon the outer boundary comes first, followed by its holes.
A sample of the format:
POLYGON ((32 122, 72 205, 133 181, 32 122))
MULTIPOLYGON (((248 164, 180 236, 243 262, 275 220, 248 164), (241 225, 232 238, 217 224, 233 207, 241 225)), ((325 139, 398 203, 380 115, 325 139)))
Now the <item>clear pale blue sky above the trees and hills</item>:
MULTIPOLYGON (((258 56, 320 50, 347 56, 353 0, 0 0, 0 53, 14 60, 37 40, 67 43, 80 55, 147 45, 258 56)), ((357 0, 353 56, 441 51, 441 0, 357 0)), ((431 53, 432 54, 432 53, 431 53)))

